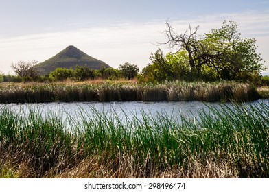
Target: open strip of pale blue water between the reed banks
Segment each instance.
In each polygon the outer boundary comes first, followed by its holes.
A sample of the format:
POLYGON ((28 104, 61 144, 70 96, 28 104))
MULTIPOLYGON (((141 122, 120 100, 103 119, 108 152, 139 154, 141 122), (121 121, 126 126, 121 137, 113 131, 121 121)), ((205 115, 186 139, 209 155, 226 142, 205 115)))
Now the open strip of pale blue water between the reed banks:
MULTIPOLYGON (((264 103, 269 104, 269 100, 258 100, 248 102, 249 104, 264 103)), ((226 103, 228 106, 233 106, 231 103, 226 103)), ((0 104, 0 107, 8 106, 14 112, 23 112, 26 115, 30 110, 38 110, 43 117, 48 114, 61 114, 63 119, 68 117, 76 118, 79 115, 86 114, 91 117, 94 113, 101 112, 102 114, 110 115, 116 113, 121 119, 132 118, 134 115, 141 119, 143 114, 156 117, 158 114, 165 114, 169 117, 176 117, 179 113, 197 117, 198 110, 208 111, 208 106, 220 107, 220 103, 203 103, 200 101, 177 101, 177 102, 74 102, 74 103, 46 103, 46 104, 0 104)))

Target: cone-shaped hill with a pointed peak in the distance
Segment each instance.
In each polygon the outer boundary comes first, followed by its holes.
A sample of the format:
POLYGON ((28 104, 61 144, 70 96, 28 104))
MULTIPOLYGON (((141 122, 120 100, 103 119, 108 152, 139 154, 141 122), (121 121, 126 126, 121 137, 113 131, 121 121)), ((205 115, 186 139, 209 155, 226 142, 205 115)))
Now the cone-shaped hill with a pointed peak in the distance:
POLYGON ((80 51, 80 49, 70 45, 60 51, 56 56, 37 64, 35 69, 40 75, 46 75, 58 67, 75 69, 77 65, 86 66, 90 69, 101 69, 102 67, 110 68, 105 62, 88 56, 86 53, 80 51))

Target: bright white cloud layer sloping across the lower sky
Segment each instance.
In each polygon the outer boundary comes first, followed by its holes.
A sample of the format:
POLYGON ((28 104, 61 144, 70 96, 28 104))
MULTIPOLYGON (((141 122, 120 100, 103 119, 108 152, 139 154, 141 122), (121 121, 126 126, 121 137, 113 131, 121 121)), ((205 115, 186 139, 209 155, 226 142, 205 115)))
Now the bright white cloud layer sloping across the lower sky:
MULTIPOLYGON (((209 32, 211 29, 218 29, 224 20, 236 21, 242 36, 257 38, 258 51, 261 51, 261 57, 267 61, 268 65, 268 11, 213 14, 187 20, 169 19, 178 32, 185 32, 189 24, 193 27, 200 25, 200 34, 209 32)), ((0 38, 0 71, 10 71, 10 64, 18 60, 39 60, 42 62, 68 45, 74 45, 90 56, 103 60, 115 68, 119 67, 119 64, 130 62, 138 64, 139 68, 142 69, 150 62, 150 53, 158 48, 152 43, 165 42, 166 37, 161 34, 164 29, 165 19, 147 23, 125 21, 114 25, 84 27, 65 32, 12 38, 2 37, 0 38)), ((165 47, 162 49, 165 52, 171 51, 165 47)))

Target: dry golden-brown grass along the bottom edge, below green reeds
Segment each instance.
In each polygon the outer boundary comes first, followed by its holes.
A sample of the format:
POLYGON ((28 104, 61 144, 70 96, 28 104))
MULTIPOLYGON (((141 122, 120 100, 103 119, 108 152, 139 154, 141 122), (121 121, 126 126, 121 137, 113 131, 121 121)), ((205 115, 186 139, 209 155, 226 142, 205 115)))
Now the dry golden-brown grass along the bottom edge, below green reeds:
MULTIPOLYGON (((145 164, 137 165, 132 156, 122 156, 115 165, 115 161, 100 160, 92 156, 81 160, 80 163, 55 174, 51 169, 43 178, 239 178, 240 170, 236 165, 229 165, 225 160, 215 162, 209 158, 206 163, 191 158, 187 160, 187 167, 172 165, 163 170, 149 170, 145 164)), ((247 171, 247 170, 246 170, 247 171)), ((0 167, 0 178, 36 178, 30 165, 22 162, 16 167, 5 164, 0 167)))

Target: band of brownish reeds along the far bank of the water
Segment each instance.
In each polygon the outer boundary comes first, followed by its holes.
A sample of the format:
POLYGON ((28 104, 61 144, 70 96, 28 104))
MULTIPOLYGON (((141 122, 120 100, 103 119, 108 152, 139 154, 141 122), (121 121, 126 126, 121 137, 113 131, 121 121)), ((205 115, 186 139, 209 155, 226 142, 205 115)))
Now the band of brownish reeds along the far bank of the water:
POLYGON ((0 84, 0 103, 53 101, 252 101, 256 88, 238 82, 58 82, 0 84))

